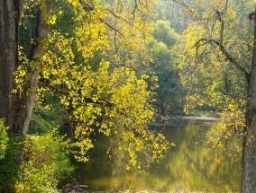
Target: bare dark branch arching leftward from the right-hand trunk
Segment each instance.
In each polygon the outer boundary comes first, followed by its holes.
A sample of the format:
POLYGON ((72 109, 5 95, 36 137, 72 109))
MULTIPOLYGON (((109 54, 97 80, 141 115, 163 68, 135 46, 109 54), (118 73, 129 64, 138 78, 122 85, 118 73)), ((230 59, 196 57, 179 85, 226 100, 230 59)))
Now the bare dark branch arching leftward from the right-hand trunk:
POLYGON ((224 45, 215 40, 215 39, 206 39, 206 38, 202 38, 199 39, 197 41, 197 43, 195 44, 195 46, 197 46, 197 48, 199 48, 201 46, 201 43, 214 43, 218 48, 220 48, 221 52, 224 54, 224 56, 226 57, 227 60, 229 60, 233 66, 235 66, 239 71, 241 71, 242 73, 244 73, 245 75, 249 75, 249 73, 242 67, 239 65, 239 63, 236 61, 235 58, 233 58, 230 53, 228 52, 228 50, 224 47, 224 45))

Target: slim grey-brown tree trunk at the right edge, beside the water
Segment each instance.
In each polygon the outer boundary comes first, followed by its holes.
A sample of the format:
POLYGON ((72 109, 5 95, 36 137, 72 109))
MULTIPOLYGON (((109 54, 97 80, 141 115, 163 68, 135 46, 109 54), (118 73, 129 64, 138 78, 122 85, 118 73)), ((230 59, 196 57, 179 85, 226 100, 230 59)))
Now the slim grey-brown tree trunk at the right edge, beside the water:
POLYGON ((242 145, 241 192, 256 192, 256 12, 251 72, 248 75, 246 133, 242 145))

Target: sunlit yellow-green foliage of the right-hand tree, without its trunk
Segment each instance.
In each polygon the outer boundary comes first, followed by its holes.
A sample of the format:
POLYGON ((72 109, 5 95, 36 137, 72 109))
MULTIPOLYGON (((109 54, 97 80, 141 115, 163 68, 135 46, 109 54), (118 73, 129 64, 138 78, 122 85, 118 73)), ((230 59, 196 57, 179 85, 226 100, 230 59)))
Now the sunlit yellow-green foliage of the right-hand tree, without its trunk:
POLYGON ((188 93, 184 111, 187 114, 195 109, 218 111, 222 120, 209 134, 209 142, 229 151, 241 151, 245 134, 247 80, 245 73, 237 68, 247 72, 250 69, 253 40, 251 24, 245 15, 253 12, 253 7, 251 1, 193 2, 190 8, 197 22, 188 25, 175 48, 181 83, 188 93), (226 11, 225 2, 228 2, 226 11), (224 12, 223 31, 216 10, 224 12))

